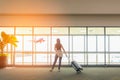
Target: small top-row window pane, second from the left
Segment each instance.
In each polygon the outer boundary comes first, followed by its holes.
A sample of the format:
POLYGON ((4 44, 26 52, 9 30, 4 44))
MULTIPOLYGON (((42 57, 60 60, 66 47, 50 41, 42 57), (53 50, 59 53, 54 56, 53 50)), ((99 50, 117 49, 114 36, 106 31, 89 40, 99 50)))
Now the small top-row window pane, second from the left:
POLYGON ((16 34, 32 34, 32 27, 17 27, 16 34))

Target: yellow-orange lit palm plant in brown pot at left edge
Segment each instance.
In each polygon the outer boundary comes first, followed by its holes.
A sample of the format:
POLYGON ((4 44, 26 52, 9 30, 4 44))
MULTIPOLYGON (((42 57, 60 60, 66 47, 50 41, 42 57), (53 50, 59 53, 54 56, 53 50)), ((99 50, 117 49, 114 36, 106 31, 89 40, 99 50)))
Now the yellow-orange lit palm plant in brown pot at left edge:
POLYGON ((17 47, 18 40, 14 35, 8 35, 5 32, 1 32, 0 38, 0 68, 4 68, 7 65, 7 55, 4 54, 4 48, 7 44, 11 44, 17 47))

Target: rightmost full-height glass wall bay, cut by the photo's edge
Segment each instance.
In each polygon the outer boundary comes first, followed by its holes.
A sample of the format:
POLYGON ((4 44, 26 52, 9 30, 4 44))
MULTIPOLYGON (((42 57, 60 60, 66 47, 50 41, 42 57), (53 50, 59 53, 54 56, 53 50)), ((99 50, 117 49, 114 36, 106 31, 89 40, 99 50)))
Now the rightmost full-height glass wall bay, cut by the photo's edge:
POLYGON ((107 50, 106 54, 108 56, 109 65, 119 65, 120 64, 120 28, 119 27, 107 27, 107 50))

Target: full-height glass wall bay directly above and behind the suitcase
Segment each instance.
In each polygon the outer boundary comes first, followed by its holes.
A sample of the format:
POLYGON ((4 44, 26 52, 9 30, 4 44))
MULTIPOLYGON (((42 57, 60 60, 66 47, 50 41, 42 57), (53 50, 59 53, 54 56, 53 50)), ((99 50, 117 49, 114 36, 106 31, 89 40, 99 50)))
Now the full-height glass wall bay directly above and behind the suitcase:
POLYGON ((86 28, 70 27, 70 61, 86 65, 86 28))

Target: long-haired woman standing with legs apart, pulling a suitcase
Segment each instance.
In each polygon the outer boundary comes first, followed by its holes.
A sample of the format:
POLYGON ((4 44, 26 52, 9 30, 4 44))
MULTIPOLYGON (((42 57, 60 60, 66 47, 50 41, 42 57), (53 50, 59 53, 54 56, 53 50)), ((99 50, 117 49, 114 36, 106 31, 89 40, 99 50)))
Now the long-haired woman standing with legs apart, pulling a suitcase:
POLYGON ((58 71, 60 72, 61 60, 62 60, 62 56, 63 56, 62 50, 64 51, 65 54, 66 54, 66 52, 65 52, 65 49, 63 48, 62 44, 60 43, 60 39, 59 38, 56 40, 56 44, 55 44, 54 49, 55 49, 55 52, 56 52, 56 54, 55 54, 55 60, 54 60, 54 63, 52 65, 52 69, 50 71, 51 72, 53 71, 53 69, 55 67, 55 64, 57 62, 57 59, 59 58, 58 71))

